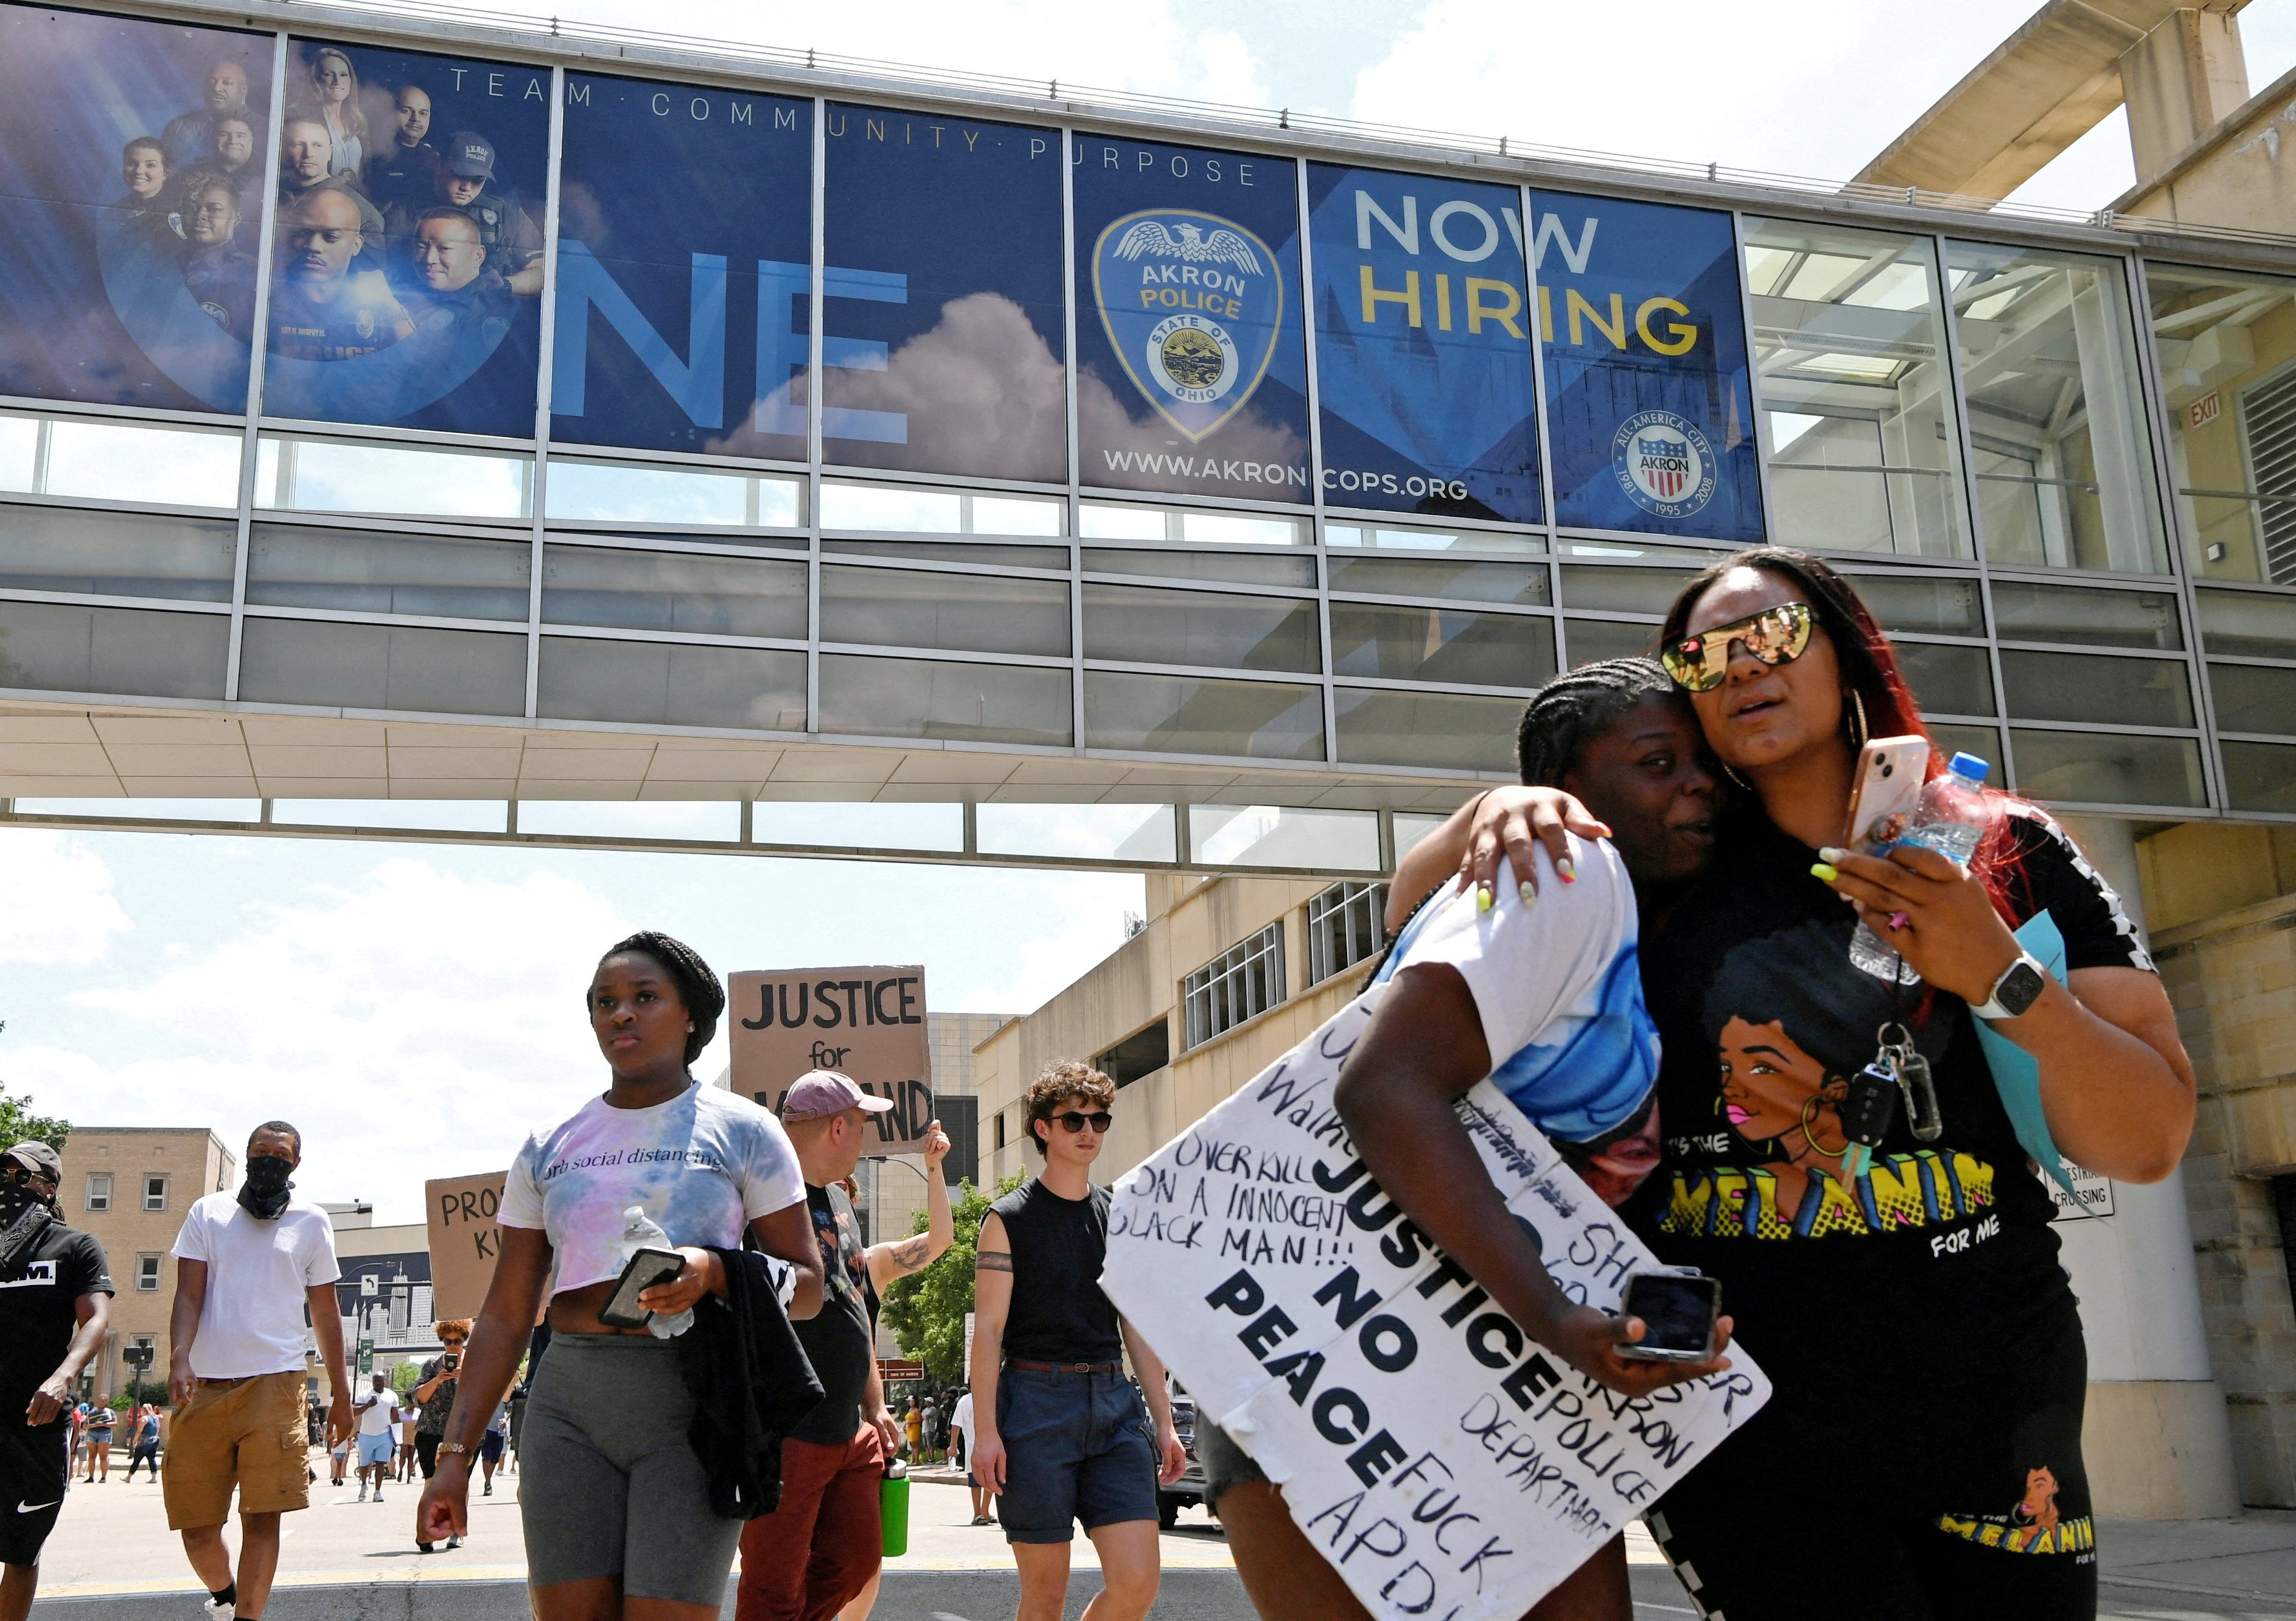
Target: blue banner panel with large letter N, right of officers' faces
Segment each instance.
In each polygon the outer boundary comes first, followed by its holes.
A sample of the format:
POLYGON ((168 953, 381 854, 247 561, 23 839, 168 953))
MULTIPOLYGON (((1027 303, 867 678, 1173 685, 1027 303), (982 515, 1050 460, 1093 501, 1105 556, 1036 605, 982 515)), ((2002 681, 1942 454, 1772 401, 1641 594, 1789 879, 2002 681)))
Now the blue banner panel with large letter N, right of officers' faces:
POLYGON ((801 462, 813 103, 565 83, 551 439, 801 462))

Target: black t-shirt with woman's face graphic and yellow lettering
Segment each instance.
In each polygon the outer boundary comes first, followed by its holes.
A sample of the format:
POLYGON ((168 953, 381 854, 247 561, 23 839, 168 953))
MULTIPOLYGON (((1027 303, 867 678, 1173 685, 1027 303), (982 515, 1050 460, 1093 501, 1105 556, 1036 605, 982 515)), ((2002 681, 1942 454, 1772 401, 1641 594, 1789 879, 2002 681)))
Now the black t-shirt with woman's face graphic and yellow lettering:
MULTIPOLYGON (((2066 969, 2151 969, 2064 831, 2023 806, 2009 817, 2016 921, 2048 909, 2066 969)), ((1972 1345, 2014 1343, 2069 1302, 2055 1205, 1968 1003, 1857 969, 1857 914, 1812 877, 1814 861, 1754 815, 1644 944, 1665 1159, 1632 1217, 1662 1261, 1722 1279, 1722 1309, 1782 1389, 1981 1375, 1972 1345), (1915 1141, 1899 1100, 1871 1164, 1844 1185, 1835 1100, 1892 1022, 1931 1063, 1945 1130, 1915 1141)))

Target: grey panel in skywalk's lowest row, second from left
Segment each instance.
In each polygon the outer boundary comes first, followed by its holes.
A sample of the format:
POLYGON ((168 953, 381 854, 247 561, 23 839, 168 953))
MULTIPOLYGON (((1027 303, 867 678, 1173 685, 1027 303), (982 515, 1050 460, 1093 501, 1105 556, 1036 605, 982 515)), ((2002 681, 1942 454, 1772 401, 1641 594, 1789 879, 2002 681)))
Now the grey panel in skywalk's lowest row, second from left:
POLYGON ((526 714, 526 636, 250 618, 239 696, 328 709, 526 714))

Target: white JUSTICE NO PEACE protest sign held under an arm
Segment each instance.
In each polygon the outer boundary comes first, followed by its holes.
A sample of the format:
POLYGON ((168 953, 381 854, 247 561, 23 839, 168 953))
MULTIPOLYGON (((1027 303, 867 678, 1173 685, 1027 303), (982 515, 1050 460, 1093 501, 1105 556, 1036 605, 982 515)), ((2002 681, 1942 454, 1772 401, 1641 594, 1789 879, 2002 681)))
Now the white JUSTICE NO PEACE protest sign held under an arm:
MULTIPOLYGON (((1116 1185, 1102 1288, 1373 1616, 1513 1621, 1770 1382, 1731 1345, 1724 1373, 1619 1396, 1490 1306, 1332 1107, 1375 996, 1116 1185)), ((1561 1290, 1616 1309, 1642 1242, 1490 1081, 1460 1120, 1561 1290)))

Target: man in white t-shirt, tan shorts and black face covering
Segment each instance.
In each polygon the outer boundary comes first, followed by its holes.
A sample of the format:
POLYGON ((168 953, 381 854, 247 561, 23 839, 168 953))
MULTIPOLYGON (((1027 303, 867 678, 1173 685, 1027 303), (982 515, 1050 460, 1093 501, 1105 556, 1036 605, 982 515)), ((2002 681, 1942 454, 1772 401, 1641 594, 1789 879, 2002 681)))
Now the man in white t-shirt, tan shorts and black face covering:
POLYGON ((168 1527, 184 1534, 209 1616, 253 1621, 271 1598, 280 1515, 310 1506, 303 1440, 303 1320, 326 1359, 328 1435, 349 1437, 351 1378, 335 1302, 335 1233, 326 1210, 294 1196, 303 1134, 266 1120, 248 1139, 239 1192, 191 1205, 174 1240, 168 1320, 168 1527), (239 1570, 223 1522, 239 1490, 239 1570))

